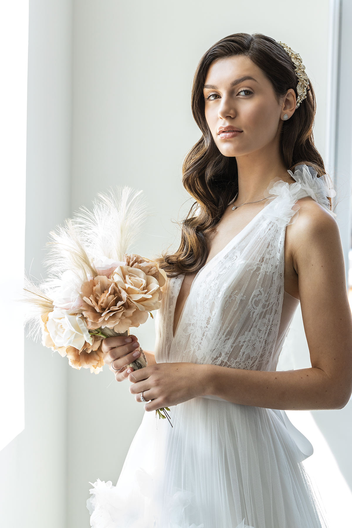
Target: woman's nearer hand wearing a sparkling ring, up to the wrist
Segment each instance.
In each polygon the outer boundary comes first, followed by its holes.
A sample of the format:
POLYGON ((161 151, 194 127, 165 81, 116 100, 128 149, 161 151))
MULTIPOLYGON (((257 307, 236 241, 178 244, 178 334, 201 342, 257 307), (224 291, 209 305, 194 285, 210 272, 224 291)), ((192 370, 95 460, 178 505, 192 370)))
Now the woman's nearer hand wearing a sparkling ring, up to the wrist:
POLYGON ((170 407, 206 393, 206 367, 197 363, 156 363, 128 375, 130 392, 146 411, 170 407), (149 401, 153 400, 153 401, 149 401))

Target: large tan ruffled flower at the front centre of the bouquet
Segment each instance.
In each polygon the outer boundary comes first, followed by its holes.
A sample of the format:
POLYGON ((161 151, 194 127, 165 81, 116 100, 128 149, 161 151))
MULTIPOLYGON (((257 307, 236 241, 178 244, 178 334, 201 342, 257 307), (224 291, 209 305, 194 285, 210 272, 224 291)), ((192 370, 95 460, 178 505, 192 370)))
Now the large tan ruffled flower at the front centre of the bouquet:
POLYGON ((112 279, 98 275, 83 282, 81 297, 82 313, 90 330, 107 326, 123 333, 134 326, 131 317, 136 306, 129 301, 126 290, 112 279))

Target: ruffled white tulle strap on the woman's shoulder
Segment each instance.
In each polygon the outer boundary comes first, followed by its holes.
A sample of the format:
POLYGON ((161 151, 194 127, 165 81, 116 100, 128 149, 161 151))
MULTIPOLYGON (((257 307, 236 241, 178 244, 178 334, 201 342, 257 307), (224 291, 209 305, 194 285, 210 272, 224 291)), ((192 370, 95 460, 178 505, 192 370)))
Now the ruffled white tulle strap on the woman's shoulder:
MULTIPOLYGON (((296 182, 283 182, 280 178, 274 178, 264 196, 270 199, 265 205, 264 216, 278 223, 281 227, 290 223, 293 215, 299 210, 297 200, 305 196, 311 196, 313 200, 324 207, 331 216, 336 213, 330 210, 328 197, 336 196, 336 191, 326 174, 318 176, 317 171, 306 164, 296 165, 294 173, 288 171, 296 182), (294 205, 296 204, 296 205, 294 205), (294 209, 292 209, 294 206, 294 209)), ((291 223, 297 219, 297 214, 291 223)))

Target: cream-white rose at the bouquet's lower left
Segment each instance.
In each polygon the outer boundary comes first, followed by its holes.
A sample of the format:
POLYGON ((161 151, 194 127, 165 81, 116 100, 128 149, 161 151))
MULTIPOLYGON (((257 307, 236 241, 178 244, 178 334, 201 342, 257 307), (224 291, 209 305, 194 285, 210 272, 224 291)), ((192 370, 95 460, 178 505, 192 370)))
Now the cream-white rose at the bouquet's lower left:
POLYGON ((69 314, 64 308, 49 312, 46 328, 56 347, 73 346, 80 350, 85 341, 92 343, 87 324, 81 314, 69 314))

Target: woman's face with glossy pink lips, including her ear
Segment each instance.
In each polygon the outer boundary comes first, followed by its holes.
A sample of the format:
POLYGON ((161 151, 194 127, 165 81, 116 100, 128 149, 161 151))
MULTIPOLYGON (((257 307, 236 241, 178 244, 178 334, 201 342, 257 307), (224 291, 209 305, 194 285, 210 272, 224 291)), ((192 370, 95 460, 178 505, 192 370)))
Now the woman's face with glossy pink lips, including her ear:
MULTIPOLYGON (((279 136, 285 98, 279 105, 270 81, 248 57, 234 55, 214 61, 207 71, 203 95, 208 127, 224 156, 248 155, 279 136), (244 79, 247 76, 253 79, 244 79), (219 134, 219 127, 229 125, 242 131, 219 134)), ((295 107, 294 90, 288 95, 288 106, 295 107)), ((287 113, 291 117, 293 112, 287 113)))

